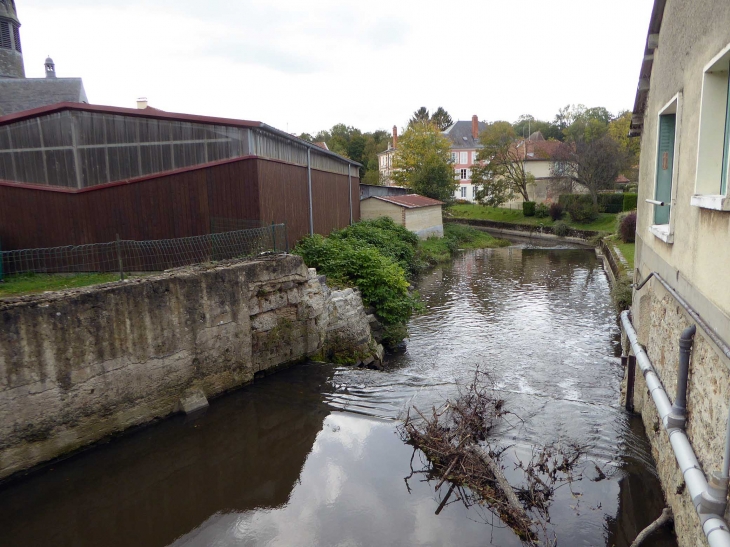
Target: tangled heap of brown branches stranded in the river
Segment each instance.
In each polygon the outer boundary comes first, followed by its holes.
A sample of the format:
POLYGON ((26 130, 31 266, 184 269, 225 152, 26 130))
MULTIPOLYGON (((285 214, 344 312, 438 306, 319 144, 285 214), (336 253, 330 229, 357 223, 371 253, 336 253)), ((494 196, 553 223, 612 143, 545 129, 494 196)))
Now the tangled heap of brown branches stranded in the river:
POLYGON ((557 538, 554 533, 550 537, 547 526, 548 508, 556 489, 581 480, 576 467, 585 451, 575 443, 536 448, 530 461, 516 461, 515 469, 523 478, 510 484, 502 463, 509 447, 490 446, 490 432, 498 426, 512 427, 513 419, 520 421, 495 396, 488 375, 477 369, 472 383, 454 401, 433 408, 430 416, 416 407, 409 409, 401 437, 427 458, 426 467, 411 476, 420 473, 438 480, 436 490, 450 484, 436 514, 455 496, 454 501, 467 507, 486 507, 525 544, 555 545, 557 538))

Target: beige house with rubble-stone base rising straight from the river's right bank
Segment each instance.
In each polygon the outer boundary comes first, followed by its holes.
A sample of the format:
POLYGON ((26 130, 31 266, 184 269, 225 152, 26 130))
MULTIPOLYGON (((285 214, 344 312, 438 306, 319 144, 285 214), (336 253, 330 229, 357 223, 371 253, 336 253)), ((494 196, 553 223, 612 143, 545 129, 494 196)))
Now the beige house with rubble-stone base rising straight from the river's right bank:
POLYGON ((645 365, 643 375, 637 367, 634 407, 680 546, 730 545, 730 2, 655 0, 640 53, 631 125, 641 137, 636 271, 631 317, 622 319, 645 365), (685 383, 679 338, 692 326, 685 383), (655 404, 661 386, 647 390, 647 362, 674 401, 671 414, 655 404), (685 385, 686 413, 676 391, 685 385), (696 460, 677 448, 683 439, 696 460))

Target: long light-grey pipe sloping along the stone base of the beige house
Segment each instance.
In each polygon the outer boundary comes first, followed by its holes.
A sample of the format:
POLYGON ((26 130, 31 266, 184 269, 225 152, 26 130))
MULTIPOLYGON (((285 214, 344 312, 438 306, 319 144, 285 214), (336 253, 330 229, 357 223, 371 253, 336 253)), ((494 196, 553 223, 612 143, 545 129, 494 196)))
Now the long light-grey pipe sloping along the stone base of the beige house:
POLYGON ((669 435, 674 457, 682 471, 684 482, 692 498, 692 504, 700 517, 702 531, 705 533, 710 547, 730 547, 730 530, 728 530, 723 518, 727 503, 727 476, 721 477, 718 473, 714 473, 710 478, 710 484, 708 484, 684 429, 673 427, 670 423, 669 417, 672 414, 672 405, 646 351, 639 344, 628 311, 621 314, 621 323, 631 343, 631 349, 636 355, 636 362, 644 375, 646 386, 649 389, 651 398, 654 400, 659 418, 669 435))

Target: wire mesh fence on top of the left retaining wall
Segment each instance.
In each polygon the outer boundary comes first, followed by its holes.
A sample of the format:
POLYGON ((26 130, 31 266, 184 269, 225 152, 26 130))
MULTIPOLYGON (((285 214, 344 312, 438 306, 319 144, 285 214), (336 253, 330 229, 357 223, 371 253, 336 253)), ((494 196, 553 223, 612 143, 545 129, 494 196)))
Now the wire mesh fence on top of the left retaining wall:
POLYGON ((154 272, 289 251, 285 224, 153 241, 0 251, 0 279, 31 273, 154 272))

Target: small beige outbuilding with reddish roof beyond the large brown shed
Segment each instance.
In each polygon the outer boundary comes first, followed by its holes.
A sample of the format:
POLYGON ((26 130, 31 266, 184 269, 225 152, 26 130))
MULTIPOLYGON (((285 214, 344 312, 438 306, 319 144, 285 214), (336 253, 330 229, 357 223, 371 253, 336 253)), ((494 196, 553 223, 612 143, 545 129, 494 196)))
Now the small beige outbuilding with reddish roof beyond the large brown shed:
POLYGON ((444 236, 444 221, 437 199, 407 194, 405 196, 372 196, 360 202, 360 218, 372 220, 390 217, 396 224, 415 232, 419 238, 444 236))

